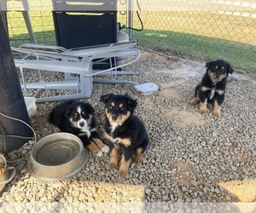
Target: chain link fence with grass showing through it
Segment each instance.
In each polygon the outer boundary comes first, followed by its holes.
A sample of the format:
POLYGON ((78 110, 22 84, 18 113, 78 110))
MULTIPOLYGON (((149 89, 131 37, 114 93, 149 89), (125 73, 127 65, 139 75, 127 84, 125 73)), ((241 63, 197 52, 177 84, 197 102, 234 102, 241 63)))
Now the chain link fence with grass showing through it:
MULTIPOLYGON (((256 73, 256 3, 254 0, 137 0, 128 12, 118 12, 122 31, 143 48, 196 60, 229 60, 236 70, 256 73)), ((119 0, 119 4, 127 4, 119 0)), ((29 16, 37 43, 55 44, 53 17, 38 1, 29 16)), ((30 42, 22 13, 7 13, 12 45, 30 42)))

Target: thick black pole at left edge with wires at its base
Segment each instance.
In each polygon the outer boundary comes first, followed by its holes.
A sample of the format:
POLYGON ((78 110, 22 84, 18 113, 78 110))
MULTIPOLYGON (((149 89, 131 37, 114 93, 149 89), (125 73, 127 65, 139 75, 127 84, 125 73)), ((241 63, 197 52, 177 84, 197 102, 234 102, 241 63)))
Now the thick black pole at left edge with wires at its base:
MULTIPOLYGON (((20 119, 26 124, 30 124, 26 103, 15 68, 14 57, 9 46, 9 38, 3 25, 2 15, 0 15, 0 112, 11 118, 20 119)), ((10 137, 8 135, 33 136, 32 130, 26 124, 6 118, 0 114, 1 153, 18 149, 28 141, 28 139, 10 137), (7 147, 7 150, 5 150, 5 147, 7 147)))

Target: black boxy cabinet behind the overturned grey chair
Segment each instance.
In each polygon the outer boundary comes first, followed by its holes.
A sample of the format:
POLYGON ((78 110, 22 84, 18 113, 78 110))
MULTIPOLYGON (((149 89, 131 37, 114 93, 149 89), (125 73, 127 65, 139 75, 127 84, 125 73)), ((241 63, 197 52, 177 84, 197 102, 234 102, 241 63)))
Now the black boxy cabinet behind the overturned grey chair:
POLYGON ((54 11, 57 45, 67 49, 115 43, 117 12, 88 13, 54 11))

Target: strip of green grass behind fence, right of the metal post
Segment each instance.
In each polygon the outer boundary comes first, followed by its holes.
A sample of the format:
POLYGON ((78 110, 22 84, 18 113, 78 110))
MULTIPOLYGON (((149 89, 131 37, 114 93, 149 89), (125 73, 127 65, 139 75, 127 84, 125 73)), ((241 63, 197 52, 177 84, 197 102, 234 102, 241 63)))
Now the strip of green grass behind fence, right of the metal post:
POLYGON ((144 30, 140 33, 140 45, 194 60, 224 59, 237 72, 256 74, 256 46, 181 32, 144 30))

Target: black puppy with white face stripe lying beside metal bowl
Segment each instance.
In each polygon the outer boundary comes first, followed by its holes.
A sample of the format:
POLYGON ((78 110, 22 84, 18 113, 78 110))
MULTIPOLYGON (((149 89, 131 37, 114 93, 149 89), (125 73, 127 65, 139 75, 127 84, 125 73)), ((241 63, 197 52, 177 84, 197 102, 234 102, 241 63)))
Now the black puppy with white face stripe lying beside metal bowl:
POLYGON ((65 101, 52 109, 48 120, 61 131, 77 135, 91 153, 102 156, 109 148, 97 133, 94 112, 89 103, 65 101))

